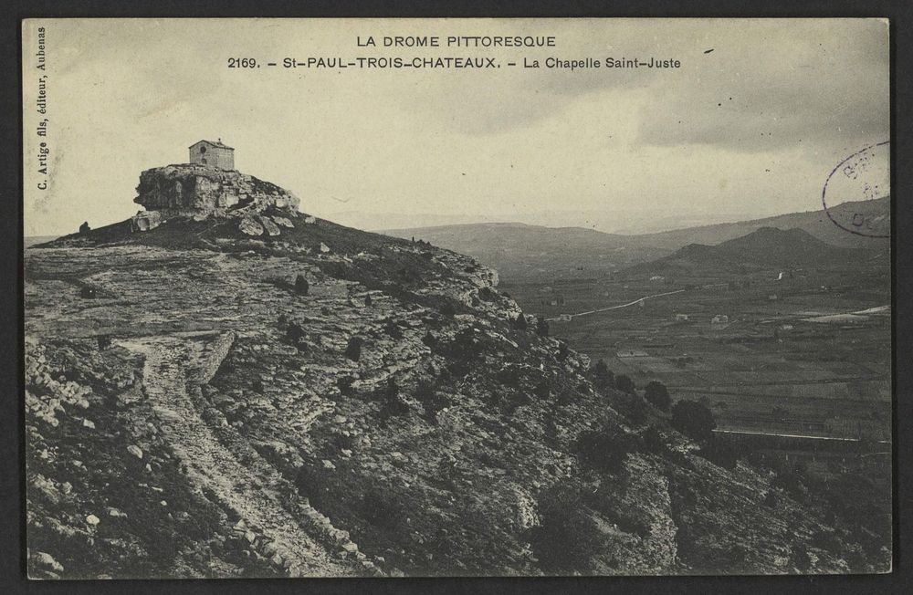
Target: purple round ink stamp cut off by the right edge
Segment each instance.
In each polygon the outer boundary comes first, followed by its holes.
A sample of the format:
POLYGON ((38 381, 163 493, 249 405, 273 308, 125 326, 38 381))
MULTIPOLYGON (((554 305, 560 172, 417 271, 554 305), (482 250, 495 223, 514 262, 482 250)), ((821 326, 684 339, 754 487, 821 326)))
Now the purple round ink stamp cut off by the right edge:
POLYGON ((879 142, 839 162, 821 192, 824 213, 845 232, 890 237, 890 206, 873 201, 891 194, 891 143, 879 142))

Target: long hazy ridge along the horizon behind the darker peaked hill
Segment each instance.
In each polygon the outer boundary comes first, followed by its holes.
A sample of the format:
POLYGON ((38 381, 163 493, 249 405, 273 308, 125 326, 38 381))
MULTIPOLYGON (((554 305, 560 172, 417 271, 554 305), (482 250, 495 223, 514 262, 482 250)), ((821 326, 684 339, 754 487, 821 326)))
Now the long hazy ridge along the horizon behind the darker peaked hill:
MULTIPOLYGON (((889 217, 890 198, 840 204, 835 214, 889 217)), ((887 239, 853 235, 840 229, 824 210, 782 214, 729 224, 688 227, 657 234, 605 234, 582 227, 544 227, 517 223, 459 224, 393 229, 383 233, 422 239, 475 256, 504 277, 554 274, 589 276, 656 260, 690 244, 718 245, 761 228, 798 229, 826 245, 886 249, 887 239)))

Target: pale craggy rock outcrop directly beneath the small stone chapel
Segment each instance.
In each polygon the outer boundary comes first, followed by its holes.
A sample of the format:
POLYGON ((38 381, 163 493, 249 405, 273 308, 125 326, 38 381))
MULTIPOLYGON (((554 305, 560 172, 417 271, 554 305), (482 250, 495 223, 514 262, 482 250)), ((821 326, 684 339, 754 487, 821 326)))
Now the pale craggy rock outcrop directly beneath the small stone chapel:
POLYGON ((226 215, 274 207, 294 213, 299 199, 276 184, 237 171, 190 163, 166 165, 140 174, 134 203, 164 217, 226 215))

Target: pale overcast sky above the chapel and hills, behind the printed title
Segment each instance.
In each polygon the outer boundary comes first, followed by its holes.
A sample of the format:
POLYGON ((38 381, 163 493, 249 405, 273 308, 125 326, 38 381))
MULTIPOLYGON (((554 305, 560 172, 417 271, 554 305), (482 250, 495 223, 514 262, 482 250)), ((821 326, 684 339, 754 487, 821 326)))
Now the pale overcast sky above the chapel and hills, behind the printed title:
POLYGON ((624 231, 651 218, 674 227, 820 208, 834 166, 889 129, 887 24, 876 20, 30 21, 23 68, 26 235, 125 219, 139 208, 140 172, 186 162, 200 139, 221 137, 239 170, 344 223, 624 231), (47 41, 47 191, 34 187, 32 157, 37 26, 47 41), (551 35, 556 47, 356 47, 357 36, 381 45, 384 35, 551 35), (265 66, 310 56, 505 66, 265 66), (550 56, 672 58, 681 68, 506 66, 550 56), (226 68, 229 57, 264 66, 226 68))

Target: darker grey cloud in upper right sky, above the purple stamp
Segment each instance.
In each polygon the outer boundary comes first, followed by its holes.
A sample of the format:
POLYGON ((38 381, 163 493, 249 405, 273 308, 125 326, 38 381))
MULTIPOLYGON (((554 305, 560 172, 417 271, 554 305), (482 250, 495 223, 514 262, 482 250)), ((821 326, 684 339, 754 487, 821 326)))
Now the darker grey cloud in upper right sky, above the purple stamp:
POLYGON ((886 41, 874 20, 746 31, 705 57, 694 84, 657 89, 640 140, 749 152, 885 140, 886 41))

